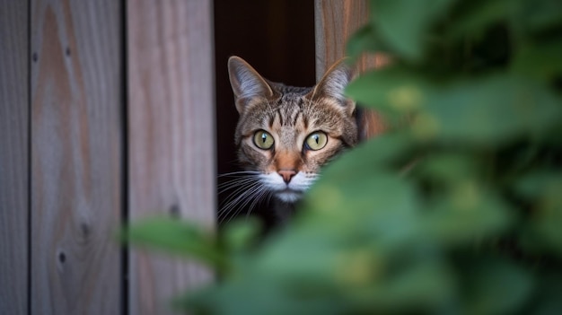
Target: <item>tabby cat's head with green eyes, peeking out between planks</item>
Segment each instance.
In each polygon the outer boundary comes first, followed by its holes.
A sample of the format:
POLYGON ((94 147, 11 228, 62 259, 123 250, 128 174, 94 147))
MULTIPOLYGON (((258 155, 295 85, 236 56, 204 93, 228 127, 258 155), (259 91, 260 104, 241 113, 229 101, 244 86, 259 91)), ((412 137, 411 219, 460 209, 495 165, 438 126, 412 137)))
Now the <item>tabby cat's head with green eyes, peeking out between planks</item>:
POLYGON ((321 167, 357 142, 355 103, 344 96, 353 71, 331 66, 320 83, 296 88, 263 78, 240 57, 228 60, 238 159, 275 197, 294 203, 321 167))

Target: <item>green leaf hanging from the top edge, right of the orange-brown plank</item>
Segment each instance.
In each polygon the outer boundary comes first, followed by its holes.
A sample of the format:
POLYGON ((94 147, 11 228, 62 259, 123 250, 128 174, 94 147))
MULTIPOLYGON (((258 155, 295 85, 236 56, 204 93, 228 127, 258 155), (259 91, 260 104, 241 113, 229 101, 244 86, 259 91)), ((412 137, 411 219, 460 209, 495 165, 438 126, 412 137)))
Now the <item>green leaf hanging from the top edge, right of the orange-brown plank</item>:
POLYGON ((401 57, 420 61, 424 55, 426 32, 455 1, 372 1, 371 24, 401 57))

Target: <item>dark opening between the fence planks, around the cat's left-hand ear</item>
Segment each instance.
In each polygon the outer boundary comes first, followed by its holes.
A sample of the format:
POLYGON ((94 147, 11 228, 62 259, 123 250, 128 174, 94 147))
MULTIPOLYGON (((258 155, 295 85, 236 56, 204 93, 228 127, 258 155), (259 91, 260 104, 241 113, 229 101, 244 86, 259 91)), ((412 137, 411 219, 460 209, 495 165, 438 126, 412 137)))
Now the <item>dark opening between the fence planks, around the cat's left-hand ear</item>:
MULTIPOLYGON (((259 74, 294 86, 315 83, 313 0, 215 0, 216 171, 240 171, 233 143, 238 112, 228 79, 228 57, 239 56, 259 74)), ((217 180, 217 185, 224 178, 217 180)), ((218 193, 218 189, 217 189, 218 193)), ((218 194, 217 194, 218 196, 218 194)), ((228 193, 217 197, 220 208, 228 193)), ((246 215, 248 209, 242 209, 246 215)), ((268 221, 268 206, 252 214, 268 221)), ((268 223, 268 222, 266 222, 268 223)))

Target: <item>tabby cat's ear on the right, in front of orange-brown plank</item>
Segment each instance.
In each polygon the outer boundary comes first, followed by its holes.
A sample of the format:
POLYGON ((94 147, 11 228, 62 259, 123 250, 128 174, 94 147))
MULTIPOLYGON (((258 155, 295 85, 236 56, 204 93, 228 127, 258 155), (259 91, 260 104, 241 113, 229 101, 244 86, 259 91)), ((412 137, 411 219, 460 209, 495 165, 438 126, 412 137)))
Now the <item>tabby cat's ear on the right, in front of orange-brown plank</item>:
POLYGON ((356 76, 352 66, 347 64, 347 59, 342 58, 333 66, 330 66, 321 81, 314 86, 310 95, 311 99, 327 97, 343 106, 351 116, 356 109, 355 101, 347 99, 344 95, 347 83, 350 83, 356 76))

